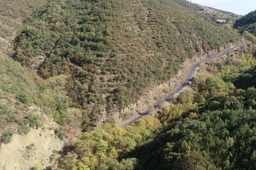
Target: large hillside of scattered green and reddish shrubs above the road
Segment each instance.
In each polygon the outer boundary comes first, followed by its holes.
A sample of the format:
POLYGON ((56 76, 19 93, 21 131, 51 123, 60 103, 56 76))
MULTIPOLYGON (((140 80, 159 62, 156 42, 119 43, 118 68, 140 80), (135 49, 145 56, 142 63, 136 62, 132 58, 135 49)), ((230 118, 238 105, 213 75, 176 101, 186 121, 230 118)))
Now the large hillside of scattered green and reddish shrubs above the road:
POLYGON ((186 59, 240 40, 228 26, 152 0, 56 0, 25 24, 14 58, 44 79, 65 77, 63 93, 47 97, 58 105, 54 119, 62 125, 67 108, 77 108, 87 115, 78 127, 86 129, 102 118, 118 123, 113 110, 170 79, 186 59))

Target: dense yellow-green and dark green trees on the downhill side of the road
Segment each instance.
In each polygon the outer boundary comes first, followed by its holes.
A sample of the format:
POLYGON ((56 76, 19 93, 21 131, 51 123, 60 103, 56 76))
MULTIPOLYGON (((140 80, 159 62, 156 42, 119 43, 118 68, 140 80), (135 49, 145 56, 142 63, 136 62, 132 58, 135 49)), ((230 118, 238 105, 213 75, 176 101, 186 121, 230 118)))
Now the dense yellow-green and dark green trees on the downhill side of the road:
POLYGON ((255 169, 255 50, 249 43, 200 67, 192 87, 164 108, 161 123, 147 116, 85 133, 59 168, 255 169))

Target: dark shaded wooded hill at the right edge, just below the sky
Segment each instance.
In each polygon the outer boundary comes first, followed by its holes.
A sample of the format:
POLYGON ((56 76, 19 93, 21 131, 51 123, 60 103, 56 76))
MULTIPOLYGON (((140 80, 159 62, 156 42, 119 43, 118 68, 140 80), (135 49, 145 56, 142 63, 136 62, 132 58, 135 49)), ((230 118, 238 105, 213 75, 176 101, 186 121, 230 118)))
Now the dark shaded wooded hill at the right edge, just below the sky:
POLYGON ((256 36, 256 10, 236 20, 234 28, 240 30, 242 33, 248 31, 256 36))

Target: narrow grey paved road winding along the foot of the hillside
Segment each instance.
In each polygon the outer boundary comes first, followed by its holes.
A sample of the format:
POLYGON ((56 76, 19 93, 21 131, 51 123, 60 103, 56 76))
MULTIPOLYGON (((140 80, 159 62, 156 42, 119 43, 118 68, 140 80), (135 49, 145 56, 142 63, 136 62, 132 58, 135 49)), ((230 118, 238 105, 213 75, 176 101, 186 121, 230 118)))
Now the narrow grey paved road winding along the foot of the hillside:
MULTIPOLYGON (((238 45, 236 47, 230 48, 229 50, 226 50, 226 52, 224 52, 223 54, 221 54, 221 55, 219 55, 217 57, 214 57, 214 58, 211 58, 211 59, 207 59, 207 60, 203 60, 203 61, 198 62, 197 64, 193 65, 193 67, 190 69, 190 72, 188 73, 188 77, 186 78, 186 81, 183 82, 183 84, 180 87, 178 87, 177 89, 175 89, 172 93, 169 93, 168 96, 166 96, 164 99, 161 99, 160 101, 155 103, 154 109, 159 108, 159 106, 164 104, 169 99, 173 98, 173 94, 174 93, 176 93, 176 94, 181 93, 181 91, 183 91, 188 86, 188 82, 192 81, 195 69, 197 69, 198 65, 200 65, 202 62, 208 62, 210 60, 215 60, 215 59, 217 59, 219 57, 222 57, 222 56, 226 55, 231 50, 234 50, 235 48, 241 47, 242 45, 245 45, 247 43, 248 43, 248 41, 245 40, 245 43, 242 43, 241 45, 238 45)), ((143 118, 144 116, 149 115, 150 113, 152 113, 152 111, 154 111, 154 110, 153 109, 149 109, 149 110, 145 111, 144 113, 142 113, 141 115, 139 115, 137 118, 134 118, 130 122, 127 122, 127 123, 121 125, 120 127, 126 127, 127 125, 131 125, 132 123, 136 123, 137 120, 143 118)))

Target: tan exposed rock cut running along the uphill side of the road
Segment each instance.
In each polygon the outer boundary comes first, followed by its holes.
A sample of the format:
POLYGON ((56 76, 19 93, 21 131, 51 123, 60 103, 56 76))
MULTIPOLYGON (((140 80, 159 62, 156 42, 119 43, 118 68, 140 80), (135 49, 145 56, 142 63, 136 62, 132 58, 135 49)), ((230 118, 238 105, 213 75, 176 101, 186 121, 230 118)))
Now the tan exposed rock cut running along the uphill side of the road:
MULTIPOLYGON (((240 43, 242 42, 237 42, 236 44, 240 43)), ((222 52, 224 52, 224 50, 222 52)), ((147 110, 151 105, 154 105, 157 101, 159 101, 159 99, 164 98, 171 91, 174 91, 174 89, 178 88, 178 86, 180 86, 185 81, 193 64, 196 64, 197 62, 205 59, 216 57, 217 55, 222 54, 222 52, 211 50, 205 54, 201 51, 198 52, 197 55, 192 59, 187 59, 183 65, 181 65, 181 69, 176 76, 172 77, 169 81, 156 86, 155 88, 147 89, 147 93, 144 93, 144 95, 140 96, 136 103, 131 104, 124 110, 115 111, 113 115, 119 115, 119 122, 117 122, 118 125, 123 125, 124 123, 130 121, 132 118, 137 117, 139 114, 143 113, 143 111, 147 110), (169 89, 168 93, 165 93, 166 89, 169 89)))

